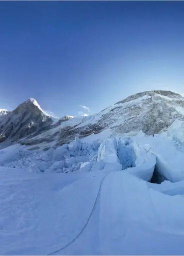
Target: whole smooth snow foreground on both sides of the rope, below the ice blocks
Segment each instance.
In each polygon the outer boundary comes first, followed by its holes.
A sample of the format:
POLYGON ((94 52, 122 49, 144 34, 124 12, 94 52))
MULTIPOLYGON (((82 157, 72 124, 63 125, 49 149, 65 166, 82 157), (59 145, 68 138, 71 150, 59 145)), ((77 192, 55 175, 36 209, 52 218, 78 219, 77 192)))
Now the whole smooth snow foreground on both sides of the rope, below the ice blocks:
POLYGON ((184 254, 184 182, 172 196, 128 171, 6 167, 0 182, 1 255, 184 254))

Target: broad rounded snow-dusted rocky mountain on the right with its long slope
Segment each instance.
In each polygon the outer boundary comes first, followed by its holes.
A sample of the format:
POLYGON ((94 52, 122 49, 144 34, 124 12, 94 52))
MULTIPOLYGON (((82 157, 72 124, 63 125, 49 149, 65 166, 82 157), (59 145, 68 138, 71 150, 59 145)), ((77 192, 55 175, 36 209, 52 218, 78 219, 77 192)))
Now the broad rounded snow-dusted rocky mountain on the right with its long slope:
POLYGON ((71 141, 75 135, 85 137, 108 130, 111 134, 143 131, 160 133, 176 120, 184 120, 182 95, 164 90, 152 90, 131 95, 97 114, 73 122, 66 121, 61 127, 59 140, 71 141))

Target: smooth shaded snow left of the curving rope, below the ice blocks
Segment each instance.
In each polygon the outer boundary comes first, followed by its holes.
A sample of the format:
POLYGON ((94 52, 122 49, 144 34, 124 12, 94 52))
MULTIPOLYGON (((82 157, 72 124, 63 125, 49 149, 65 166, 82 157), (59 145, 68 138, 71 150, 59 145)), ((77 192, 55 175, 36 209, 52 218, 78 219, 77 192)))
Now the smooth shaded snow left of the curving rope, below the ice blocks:
POLYGON ((0 254, 47 254, 71 241, 94 205, 103 176, 93 176, 1 167, 0 254))

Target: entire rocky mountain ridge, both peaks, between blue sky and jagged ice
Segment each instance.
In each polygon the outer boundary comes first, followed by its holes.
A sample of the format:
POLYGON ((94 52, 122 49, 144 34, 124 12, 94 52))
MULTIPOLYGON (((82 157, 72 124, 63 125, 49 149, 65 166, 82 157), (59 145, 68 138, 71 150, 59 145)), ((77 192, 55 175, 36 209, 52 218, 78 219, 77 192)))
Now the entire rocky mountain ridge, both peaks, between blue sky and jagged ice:
POLYGON ((75 136, 85 137, 105 129, 114 133, 142 130, 154 134, 167 129, 176 119, 184 120, 184 98, 165 90, 136 93, 97 114, 64 116, 57 121, 36 100, 28 99, 0 115, 0 142, 35 145, 55 141, 61 145, 75 136))

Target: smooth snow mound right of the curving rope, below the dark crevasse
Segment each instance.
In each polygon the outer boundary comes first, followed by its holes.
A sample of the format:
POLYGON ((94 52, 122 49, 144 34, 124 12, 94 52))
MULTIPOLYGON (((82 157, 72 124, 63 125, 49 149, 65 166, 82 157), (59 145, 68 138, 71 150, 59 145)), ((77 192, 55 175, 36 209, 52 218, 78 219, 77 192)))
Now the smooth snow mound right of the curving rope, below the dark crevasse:
POLYGON ((111 172, 104 179, 88 225, 58 255, 182 255, 183 202, 184 197, 149 189, 147 182, 131 174, 111 172))

